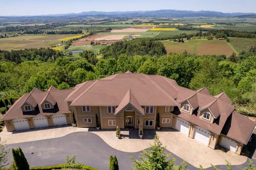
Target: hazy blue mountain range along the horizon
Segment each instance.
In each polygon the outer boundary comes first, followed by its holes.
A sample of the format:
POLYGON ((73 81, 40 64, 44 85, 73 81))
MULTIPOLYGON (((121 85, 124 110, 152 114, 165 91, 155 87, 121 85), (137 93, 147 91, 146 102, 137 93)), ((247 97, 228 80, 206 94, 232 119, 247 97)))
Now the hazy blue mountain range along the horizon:
MULTIPOLYGON (((161 9, 154 11, 114 11, 114 12, 102 12, 102 11, 89 11, 81 13, 68 13, 68 14, 52 14, 52 15, 40 15, 48 17, 70 17, 70 16, 126 16, 126 17, 234 17, 234 16, 254 16, 256 13, 223 13, 216 11, 186 11, 186 10, 173 10, 173 9, 161 9)), ((32 17, 32 16, 27 16, 32 17)))

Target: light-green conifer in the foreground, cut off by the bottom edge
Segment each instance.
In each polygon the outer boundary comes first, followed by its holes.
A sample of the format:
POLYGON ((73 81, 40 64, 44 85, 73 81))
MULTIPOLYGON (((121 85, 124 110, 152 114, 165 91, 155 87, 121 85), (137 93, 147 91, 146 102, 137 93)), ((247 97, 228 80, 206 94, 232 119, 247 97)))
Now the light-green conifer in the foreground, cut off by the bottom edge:
POLYGON ((164 151, 165 147, 159 140, 159 136, 154 138, 154 144, 150 146, 148 150, 143 150, 143 153, 139 156, 141 161, 132 157, 132 165, 134 170, 187 170, 186 162, 183 162, 180 166, 175 166, 175 159, 168 160, 170 154, 164 151))

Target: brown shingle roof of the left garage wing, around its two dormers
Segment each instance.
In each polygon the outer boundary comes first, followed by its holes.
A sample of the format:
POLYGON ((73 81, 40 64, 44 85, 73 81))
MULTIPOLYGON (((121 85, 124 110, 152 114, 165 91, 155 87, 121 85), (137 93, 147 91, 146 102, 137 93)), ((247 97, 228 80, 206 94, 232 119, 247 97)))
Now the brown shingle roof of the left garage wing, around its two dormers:
MULTIPOLYGON (((46 116, 53 114, 61 114, 61 113, 69 113, 67 103, 64 99, 73 91, 73 89, 69 90, 58 90, 58 91, 50 91, 50 92, 35 92, 35 93, 26 93, 21 98, 16 100, 11 108, 5 113, 5 115, 1 118, 1 120, 13 120, 19 118, 29 118, 35 116, 46 116), (47 93, 50 96, 54 97, 58 105, 58 111, 55 113, 48 113, 47 110, 42 111, 42 107, 40 104, 41 101, 46 97, 47 93), (22 109, 19 107, 28 97, 34 98, 36 105, 38 106, 38 113, 36 115, 26 115, 23 114, 22 109)), ((37 107, 36 106, 36 107, 37 107)))

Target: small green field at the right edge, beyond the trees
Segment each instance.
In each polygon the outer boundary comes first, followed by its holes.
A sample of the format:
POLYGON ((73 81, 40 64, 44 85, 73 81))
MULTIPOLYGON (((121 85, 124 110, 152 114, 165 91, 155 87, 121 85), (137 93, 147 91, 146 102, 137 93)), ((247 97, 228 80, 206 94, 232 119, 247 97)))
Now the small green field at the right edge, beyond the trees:
POLYGON ((230 44, 236 49, 238 52, 242 52, 243 50, 249 50, 252 46, 256 46, 255 38, 234 38, 230 37, 230 44))

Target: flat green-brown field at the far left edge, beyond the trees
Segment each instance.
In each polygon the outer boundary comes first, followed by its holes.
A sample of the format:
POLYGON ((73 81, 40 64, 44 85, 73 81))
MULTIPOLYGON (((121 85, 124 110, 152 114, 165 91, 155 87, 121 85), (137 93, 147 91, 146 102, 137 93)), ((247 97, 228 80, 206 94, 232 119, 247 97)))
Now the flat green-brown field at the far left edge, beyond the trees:
POLYGON ((59 39, 72 37, 74 35, 23 35, 18 37, 1 38, 0 49, 31 49, 47 48, 54 46, 61 41, 59 39))

